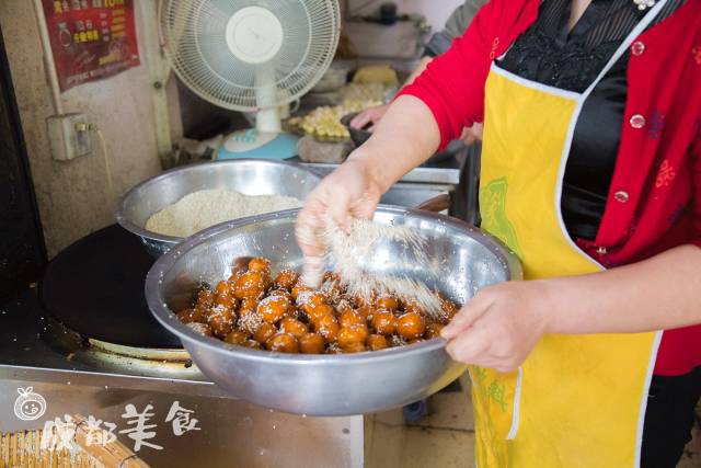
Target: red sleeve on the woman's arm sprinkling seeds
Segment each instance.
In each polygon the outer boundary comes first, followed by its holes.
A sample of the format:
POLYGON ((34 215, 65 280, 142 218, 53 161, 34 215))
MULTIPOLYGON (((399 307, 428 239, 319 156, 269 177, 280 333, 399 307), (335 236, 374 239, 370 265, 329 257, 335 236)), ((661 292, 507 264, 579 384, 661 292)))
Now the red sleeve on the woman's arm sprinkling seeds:
POLYGON ((478 12, 462 37, 434 59, 399 95, 422 100, 440 129, 440 147, 463 127, 484 119, 484 83, 495 57, 538 15, 536 0, 492 0, 478 12))

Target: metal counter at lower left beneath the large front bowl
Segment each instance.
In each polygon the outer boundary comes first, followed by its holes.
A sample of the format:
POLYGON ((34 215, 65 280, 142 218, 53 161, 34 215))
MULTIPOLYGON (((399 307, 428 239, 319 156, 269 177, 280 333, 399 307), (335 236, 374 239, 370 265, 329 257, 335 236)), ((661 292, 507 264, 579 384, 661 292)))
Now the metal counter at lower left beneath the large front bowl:
POLYGON ((156 434, 145 442, 162 448, 145 445, 136 453, 156 468, 363 466, 363 416, 303 418, 255 407, 229 398, 187 364, 134 362, 119 373, 91 366, 39 338, 47 327, 41 310, 35 289, 0 306, 0 433, 39 430, 66 414, 92 415, 116 424, 118 440, 134 449, 134 433, 119 433, 133 427, 124 415, 130 404, 138 412, 150 404, 156 434), (16 412, 19 391, 28 387, 46 402, 34 421, 16 412), (175 402, 192 411, 199 429, 175 435, 173 421, 165 421, 175 402))

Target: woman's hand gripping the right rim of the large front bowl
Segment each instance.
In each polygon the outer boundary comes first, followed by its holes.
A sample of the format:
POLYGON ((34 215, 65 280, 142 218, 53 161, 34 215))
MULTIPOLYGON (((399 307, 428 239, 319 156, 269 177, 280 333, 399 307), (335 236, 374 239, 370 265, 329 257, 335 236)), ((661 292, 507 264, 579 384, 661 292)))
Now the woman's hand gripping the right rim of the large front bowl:
POLYGON ((544 333, 550 309, 547 282, 509 282, 490 286, 460 310, 443 332, 447 351, 461 363, 516 369, 544 333))

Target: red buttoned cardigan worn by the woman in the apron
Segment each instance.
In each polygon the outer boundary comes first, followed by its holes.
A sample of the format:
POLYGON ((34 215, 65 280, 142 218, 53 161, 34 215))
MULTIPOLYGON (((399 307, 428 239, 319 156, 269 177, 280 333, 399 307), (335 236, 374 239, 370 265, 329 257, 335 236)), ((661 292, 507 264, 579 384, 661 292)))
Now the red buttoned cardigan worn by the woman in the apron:
MULTIPOLYGON (((490 66, 536 21, 540 2, 492 0, 451 49, 402 90, 428 105, 443 145, 483 121, 490 66)), ((681 244, 701 247, 701 0, 687 0, 634 41, 628 81, 606 213, 596 241, 577 241, 606 266, 681 244)), ((656 374, 699 365, 701 326, 664 333, 656 374)))

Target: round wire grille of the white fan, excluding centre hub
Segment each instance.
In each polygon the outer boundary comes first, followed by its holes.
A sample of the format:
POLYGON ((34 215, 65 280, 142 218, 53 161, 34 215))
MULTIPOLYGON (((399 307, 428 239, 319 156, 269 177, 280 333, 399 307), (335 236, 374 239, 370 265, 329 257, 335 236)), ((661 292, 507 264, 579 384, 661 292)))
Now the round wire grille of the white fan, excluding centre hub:
POLYGON ((336 0, 165 0, 160 21, 166 56, 189 89, 221 107, 255 111, 290 103, 321 79, 341 13, 336 0), (244 62, 227 45, 229 19, 246 7, 269 10, 283 25, 283 45, 266 64, 244 62), (261 73, 273 73, 276 92, 256 93, 261 73))

